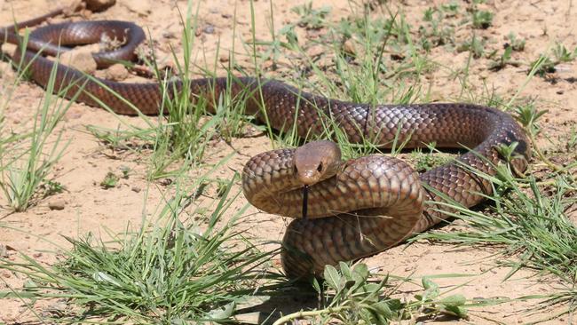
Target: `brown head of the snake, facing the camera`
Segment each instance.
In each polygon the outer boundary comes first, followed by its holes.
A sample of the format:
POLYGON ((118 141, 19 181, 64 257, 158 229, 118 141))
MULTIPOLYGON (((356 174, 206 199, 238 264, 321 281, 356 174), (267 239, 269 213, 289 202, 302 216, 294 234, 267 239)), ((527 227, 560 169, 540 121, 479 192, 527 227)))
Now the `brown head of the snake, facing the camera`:
POLYGON ((309 142, 296 148, 293 165, 298 180, 310 186, 336 174, 341 165, 341 149, 328 140, 309 142))

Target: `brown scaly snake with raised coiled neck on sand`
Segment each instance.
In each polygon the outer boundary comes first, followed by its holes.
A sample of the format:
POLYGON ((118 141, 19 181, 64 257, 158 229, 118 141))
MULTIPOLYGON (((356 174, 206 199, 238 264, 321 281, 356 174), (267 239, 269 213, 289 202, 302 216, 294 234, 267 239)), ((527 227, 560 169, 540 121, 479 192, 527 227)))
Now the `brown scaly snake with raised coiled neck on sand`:
MULTIPOLYGON (((90 3, 87 3, 90 5, 90 3)), ((93 8, 92 10, 98 10, 93 8)), ((161 83, 120 83, 90 77, 47 56, 67 46, 119 39, 113 51, 93 53, 98 67, 137 59, 135 49, 146 35, 138 25, 119 20, 77 21, 34 29, 22 44, 20 28, 35 26, 62 10, 0 28, 0 44, 19 44, 12 60, 29 77, 54 92, 122 115, 162 114, 162 102, 189 91, 191 104, 204 99, 209 111, 227 92, 244 100, 245 113, 273 129, 294 128, 307 139, 335 126, 353 144, 377 147, 466 149, 454 160, 423 173, 390 155, 344 160, 333 139, 301 147, 266 151, 249 159, 242 170, 242 191, 258 210, 294 218, 282 240, 281 263, 288 277, 322 276, 325 266, 338 266, 375 255, 412 234, 439 224, 454 212, 447 202, 472 207, 492 194, 496 166, 510 163, 526 170, 531 147, 514 117, 494 107, 469 103, 372 105, 302 91, 275 79, 254 76, 209 77, 161 83), (173 90, 173 91, 167 91, 173 90), (499 147, 514 147, 506 160, 499 147), (306 191, 304 191, 306 188, 306 191), (306 199, 304 195, 306 194, 306 199), (306 211, 303 204, 306 204, 306 211), (304 215, 304 213, 306 215, 304 215), (305 218, 304 218, 305 217, 305 218)))

